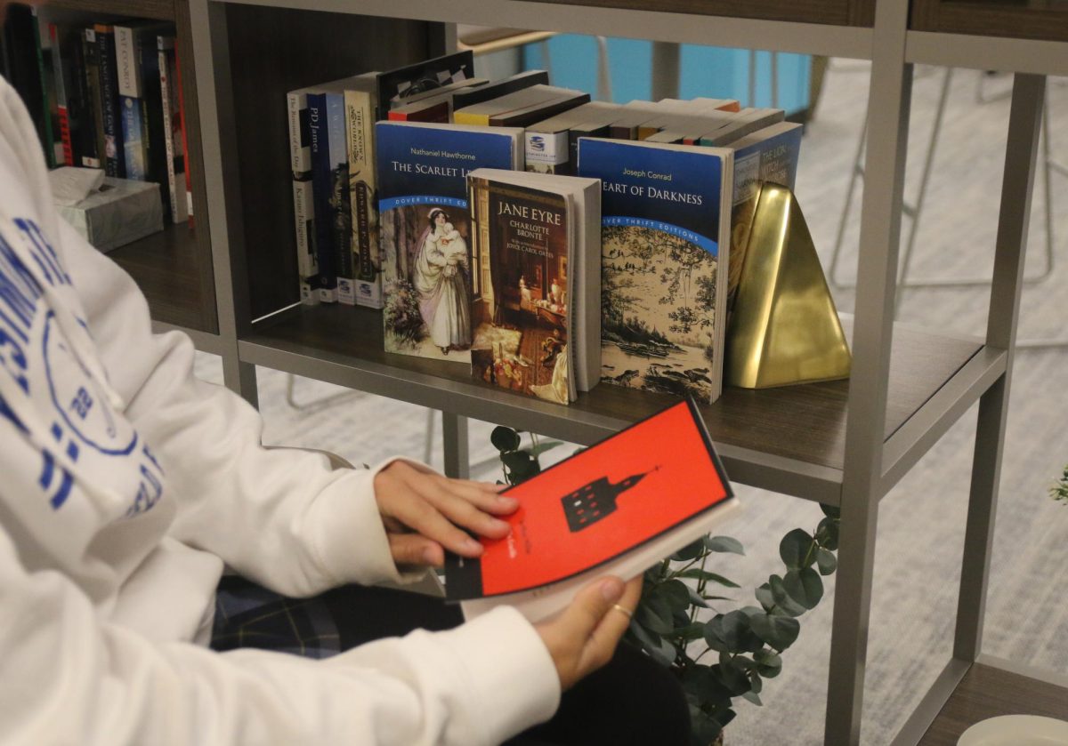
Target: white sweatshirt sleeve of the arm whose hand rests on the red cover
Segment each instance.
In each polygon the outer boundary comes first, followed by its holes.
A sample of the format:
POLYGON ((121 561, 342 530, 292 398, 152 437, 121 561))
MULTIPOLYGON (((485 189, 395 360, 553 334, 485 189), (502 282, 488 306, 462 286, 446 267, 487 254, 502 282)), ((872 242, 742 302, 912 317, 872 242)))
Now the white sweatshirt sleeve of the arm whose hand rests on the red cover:
POLYGON ((318 454, 263 447, 258 412, 198 380, 189 338, 153 334, 129 275, 58 222, 110 383, 178 501, 171 535, 288 596, 398 580, 375 503, 377 469, 331 470, 318 454))

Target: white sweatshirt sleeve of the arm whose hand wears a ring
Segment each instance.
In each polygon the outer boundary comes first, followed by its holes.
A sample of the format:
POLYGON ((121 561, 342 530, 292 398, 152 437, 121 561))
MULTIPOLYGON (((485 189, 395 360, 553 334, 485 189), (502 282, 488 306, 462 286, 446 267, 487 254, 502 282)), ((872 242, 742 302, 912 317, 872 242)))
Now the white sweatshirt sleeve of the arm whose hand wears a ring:
POLYGON ((0 743, 480 746, 548 718, 559 683, 511 608, 327 661, 154 642, 103 621, 0 528, 0 743))

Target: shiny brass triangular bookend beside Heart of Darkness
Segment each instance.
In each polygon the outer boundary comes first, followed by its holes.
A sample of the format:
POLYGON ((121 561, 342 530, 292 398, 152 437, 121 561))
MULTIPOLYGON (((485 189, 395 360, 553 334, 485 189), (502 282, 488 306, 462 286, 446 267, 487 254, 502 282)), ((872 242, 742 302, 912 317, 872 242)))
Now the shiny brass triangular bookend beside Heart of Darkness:
POLYGON ((849 378, 852 356, 794 194, 760 188, 727 328, 724 383, 769 388, 849 378))

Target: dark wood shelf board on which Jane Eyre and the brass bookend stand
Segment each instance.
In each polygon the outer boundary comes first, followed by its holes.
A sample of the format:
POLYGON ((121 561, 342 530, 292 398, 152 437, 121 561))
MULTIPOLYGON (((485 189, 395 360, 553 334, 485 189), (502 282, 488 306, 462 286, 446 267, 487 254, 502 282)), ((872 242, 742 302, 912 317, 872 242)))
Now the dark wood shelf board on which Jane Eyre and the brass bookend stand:
MULTIPOLYGON (((847 321, 848 326, 848 321, 847 321)), ((912 329, 895 333, 886 434, 906 423, 981 345, 912 329)), ((480 384, 469 367, 382 351, 381 315, 337 305, 296 306, 254 328, 239 344, 245 362, 372 393, 592 443, 668 406, 668 395, 602 384, 569 407, 480 384)), ((764 391, 727 388, 703 408, 733 478, 837 503, 848 381, 764 391), (761 476, 764 475, 764 476, 761 476), (789 485, 788 477, 801 479, 789 485)))

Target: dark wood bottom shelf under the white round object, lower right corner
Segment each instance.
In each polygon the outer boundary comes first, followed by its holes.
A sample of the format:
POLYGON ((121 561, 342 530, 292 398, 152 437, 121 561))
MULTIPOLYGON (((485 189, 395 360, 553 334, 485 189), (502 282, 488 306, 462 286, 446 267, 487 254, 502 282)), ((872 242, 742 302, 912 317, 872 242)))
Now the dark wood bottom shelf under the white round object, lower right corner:
POLYGON ((988 717, 1064 718, 1068 688, 996 666, 974 664, 946 700, 918 746, 956 746, 961 733, 988 717))

